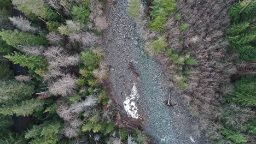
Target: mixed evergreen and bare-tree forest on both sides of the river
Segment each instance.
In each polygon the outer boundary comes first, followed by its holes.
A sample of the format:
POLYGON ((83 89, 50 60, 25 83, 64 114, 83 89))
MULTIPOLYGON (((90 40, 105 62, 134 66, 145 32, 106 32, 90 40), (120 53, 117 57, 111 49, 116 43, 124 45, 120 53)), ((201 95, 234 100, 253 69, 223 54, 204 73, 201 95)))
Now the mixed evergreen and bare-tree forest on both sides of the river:
POLYGON ((146 114, 114 98, 112 13, 129 16, 118 21, 132 21, 207 143, 256 142, 256 1, 0 0, 0 143, 180 143, 154 140, 146 114))

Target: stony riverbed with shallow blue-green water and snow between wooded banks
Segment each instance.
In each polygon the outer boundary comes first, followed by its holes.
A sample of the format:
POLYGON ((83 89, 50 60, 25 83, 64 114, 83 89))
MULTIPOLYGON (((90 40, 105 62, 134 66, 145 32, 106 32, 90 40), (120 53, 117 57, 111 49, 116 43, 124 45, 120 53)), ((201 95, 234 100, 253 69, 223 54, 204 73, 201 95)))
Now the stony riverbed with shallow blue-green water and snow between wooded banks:
POLYGON ((197 129, 196 117, 174 89, 171 103, 182 107, 164 104, 169 81, 160 63, 144 51, 126 7, 126 0, 119 0, 116 7, 112 2, 107 4, 108 29, 101 35, 101 48, 106 53, 103 64, 110 70, 107 81, 120 113, 143 121, 143 130, 154 143, 207 143, 205 131, 197 129))

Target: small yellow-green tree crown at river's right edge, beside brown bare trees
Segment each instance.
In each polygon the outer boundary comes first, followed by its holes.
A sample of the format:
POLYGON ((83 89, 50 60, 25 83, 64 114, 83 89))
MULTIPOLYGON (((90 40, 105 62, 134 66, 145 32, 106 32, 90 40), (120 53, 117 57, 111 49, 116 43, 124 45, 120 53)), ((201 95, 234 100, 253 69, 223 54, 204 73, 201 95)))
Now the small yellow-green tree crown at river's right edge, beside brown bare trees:
POLYGON ((160 36, 158 35, 158 38, 155 40, 152 40, 149 44, 149 49, 152 49, 154 52, 162 52, 162 49, 164 49, 167 46, 166 38, 164 35, 160 36))

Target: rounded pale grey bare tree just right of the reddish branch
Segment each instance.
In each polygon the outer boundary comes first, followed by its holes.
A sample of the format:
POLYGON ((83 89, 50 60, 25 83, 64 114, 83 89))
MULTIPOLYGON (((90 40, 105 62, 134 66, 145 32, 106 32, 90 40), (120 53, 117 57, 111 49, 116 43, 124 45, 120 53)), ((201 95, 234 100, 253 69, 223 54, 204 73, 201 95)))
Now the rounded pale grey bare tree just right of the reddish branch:
POLYGON ((49 92, 53 95, 66 96, 74 93, 74 89, 77 88, 75 77, 72 75, 64 75, 56 82, 49 83, 49 92))

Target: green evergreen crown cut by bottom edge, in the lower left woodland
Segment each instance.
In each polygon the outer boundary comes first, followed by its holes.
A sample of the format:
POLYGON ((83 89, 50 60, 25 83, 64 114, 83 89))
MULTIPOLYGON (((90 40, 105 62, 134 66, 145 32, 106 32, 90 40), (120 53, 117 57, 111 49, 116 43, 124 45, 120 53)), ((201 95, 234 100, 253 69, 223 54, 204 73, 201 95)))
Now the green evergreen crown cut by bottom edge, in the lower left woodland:
POLYGON ((25 134, 26 139, 32 139, 31 144, 55 144, 59 141, 56 134, 61 128, 60 122, 45 121, 43 124, 34 125, 32 129, 28 130, 25 134))

